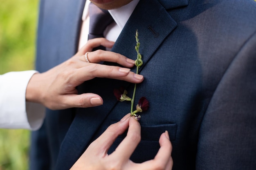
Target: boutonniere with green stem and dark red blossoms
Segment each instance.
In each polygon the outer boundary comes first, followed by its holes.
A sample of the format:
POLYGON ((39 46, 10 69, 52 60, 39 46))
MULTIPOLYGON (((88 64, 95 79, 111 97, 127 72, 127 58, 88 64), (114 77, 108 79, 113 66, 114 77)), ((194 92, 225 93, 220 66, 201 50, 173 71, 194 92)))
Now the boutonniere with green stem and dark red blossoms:
MULTIPOLYGON (((137 60, 135 60, 135 66, 136 66, 136 74, 139 73, 139 67, 142 66, 143 61, 142 61, 142 56, 139 53, 139 33, 138 30, 136 30, 136 34, 135 34, 135 38, 136 38, 136 46, 135 46, 135 50, 137 51, 137 60)), ((138 115, 138 112, 142 112, 142 111, 146 111, 148 110, 148 106, 149 106, 149 102, 146 99, 146 97, 141 97, 139 99, 139 102, 136 106, 136 110, 134 109, 134 99, 135 99, 135 93, 136 93, 136 86, 137 84, 134 84, 134 89, 133 89, 133 94, 132 94, 132 98, 128 97, 127 94, 128 92, 124 89, 124 88, 119 88, 119 89, 114 89, 114 94, 115 97, 117 98, 117 100, 123 102, 123 101, 130 101, 131 102, 131 116, 134 116, 136 120, 139 120, 141 118, 140 115, 138 115)))

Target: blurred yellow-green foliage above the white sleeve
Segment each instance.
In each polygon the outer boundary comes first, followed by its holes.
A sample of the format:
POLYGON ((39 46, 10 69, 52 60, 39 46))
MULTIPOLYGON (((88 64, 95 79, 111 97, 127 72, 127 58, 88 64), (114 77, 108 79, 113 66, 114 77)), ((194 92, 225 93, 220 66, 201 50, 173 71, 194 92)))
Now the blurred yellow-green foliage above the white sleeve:
POLYGON ((34 68, 38 0, 0 0, 0 74, 34 68))

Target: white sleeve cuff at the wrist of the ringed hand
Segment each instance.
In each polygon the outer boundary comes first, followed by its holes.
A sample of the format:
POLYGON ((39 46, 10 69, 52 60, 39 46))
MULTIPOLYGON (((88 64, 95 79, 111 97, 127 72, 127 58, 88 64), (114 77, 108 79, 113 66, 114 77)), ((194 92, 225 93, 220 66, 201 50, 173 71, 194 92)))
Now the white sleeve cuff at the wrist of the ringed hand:
POLYGON ((27 84, 37 71, 0 75, 0 128, 37 130, 43 124, 45 107, 26 102, 27 84))

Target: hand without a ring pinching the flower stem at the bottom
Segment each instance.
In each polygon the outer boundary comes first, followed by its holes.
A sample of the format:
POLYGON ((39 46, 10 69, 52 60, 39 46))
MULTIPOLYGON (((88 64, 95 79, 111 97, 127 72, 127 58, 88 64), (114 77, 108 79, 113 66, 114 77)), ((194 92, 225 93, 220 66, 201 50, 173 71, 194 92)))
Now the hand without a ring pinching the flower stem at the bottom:
POLYGON ((140 125, 130 113, 121 121, 110 125, 107 130, 85 150, 70 170, 171 170, 173 160, 172 146, 168 132, 159 139, 160 149, 154 159, 143 163, 134 163, 130 156, 141 140, 140 125), (128 129, 127 136, 112 154, 108 149, 115 139, 128 129))

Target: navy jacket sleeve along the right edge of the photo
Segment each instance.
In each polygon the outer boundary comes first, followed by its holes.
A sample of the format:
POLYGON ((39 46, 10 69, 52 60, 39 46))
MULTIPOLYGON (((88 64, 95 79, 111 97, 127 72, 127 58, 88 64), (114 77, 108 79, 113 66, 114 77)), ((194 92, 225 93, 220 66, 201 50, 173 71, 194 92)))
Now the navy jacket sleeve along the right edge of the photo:
POLYGON ((256 167, 256 34, 234 57, 202 120, 196 169, 256 167))

